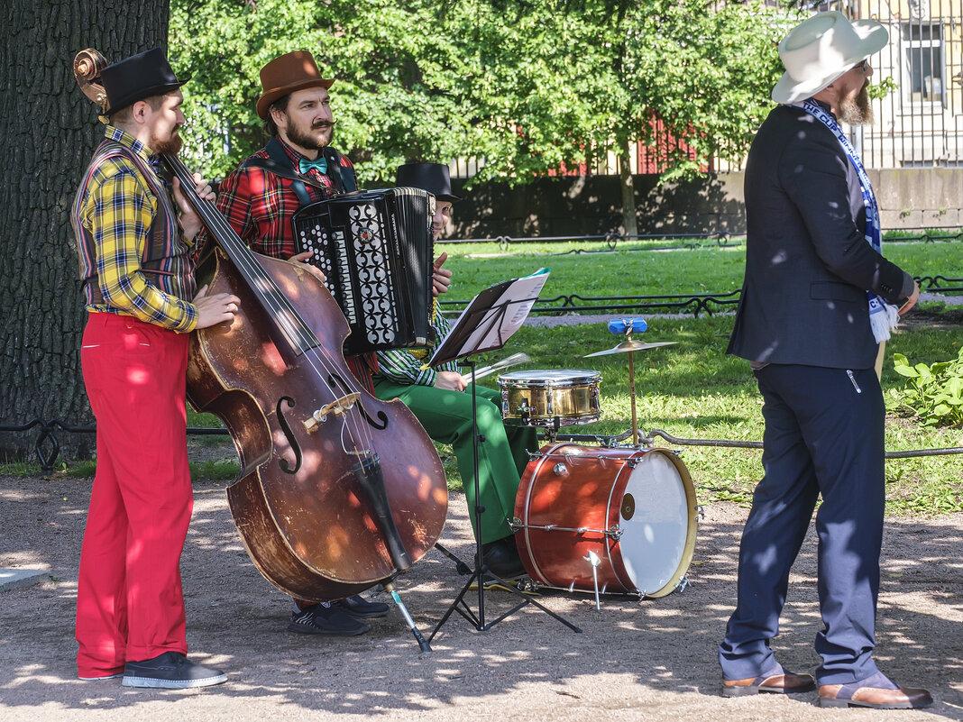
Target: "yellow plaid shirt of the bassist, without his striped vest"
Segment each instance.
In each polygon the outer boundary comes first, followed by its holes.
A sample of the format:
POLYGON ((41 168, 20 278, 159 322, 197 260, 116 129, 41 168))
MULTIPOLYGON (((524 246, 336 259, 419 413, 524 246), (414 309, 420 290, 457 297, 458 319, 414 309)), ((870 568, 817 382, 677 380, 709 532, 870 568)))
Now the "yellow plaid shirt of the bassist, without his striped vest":
MULTIPOLYGON (((150 166, 150 151, 142 142, 110 125, 105 135, 133 150, 150 166)), ((184 274, 189 272, 184 266, 187 255, 183 261, 174 259, 175 272, 157 280, 148 278, 141 268, 159 200, 142 171, 129 159, 113 156, 91 168, 88 176, 74 206, 74 220, 91 235, 95 258, 86 258, 82 249, 81 277, 96 283, 103 296, 103 303, 91 303, 88 310, 134 316, 179 332, 193 330, 195 305, 179 297, 184 293, 184 274)), ((173 222, 180 236, 176 219, 173 222)), ((84 245, 79 237, 78 245, 84 245)), ((177 245, 181 250, 192 248, 182 236, 177 245)))

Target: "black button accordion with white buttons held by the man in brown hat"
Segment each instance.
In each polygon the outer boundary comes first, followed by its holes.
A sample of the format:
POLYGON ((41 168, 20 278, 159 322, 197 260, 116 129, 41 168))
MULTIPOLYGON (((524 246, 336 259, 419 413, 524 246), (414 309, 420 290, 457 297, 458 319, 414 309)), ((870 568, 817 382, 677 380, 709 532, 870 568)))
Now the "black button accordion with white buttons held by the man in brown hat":
POLYGON ((327 277, 348 319, 345 352, 429 346, 434 196, 416 188, 337 195, 293 219, 298 252, 327 277))

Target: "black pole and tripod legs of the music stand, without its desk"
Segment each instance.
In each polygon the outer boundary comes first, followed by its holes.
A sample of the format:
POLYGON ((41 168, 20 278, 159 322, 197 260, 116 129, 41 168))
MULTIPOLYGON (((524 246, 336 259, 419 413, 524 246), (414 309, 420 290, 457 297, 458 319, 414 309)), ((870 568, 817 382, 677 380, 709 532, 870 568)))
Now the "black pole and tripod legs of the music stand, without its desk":
POLYGON ((467 564, 465 564, 457 556, 455 556, 455 554, 452 554, 449 550, 445 549, 440 544, 435 544, 435 548, 437 548, 438 551, 440 551, 442 554, 445 554, 446 556, 448 556, 449 558, 455 561, 455 565, 459 574, 470 574, 470 576, 468 580, 465 582, 464 586, 461 587, 461 591, 458 592, 458 596, 455 597, 455 601, 452 602, 452 604, 448 607, 448 610, 445 612, 445 615, 441 618, 441 621, 438 622, 437 626, 429 634, 428 640, 430 642, 432 639, 434 639, 434 635, 438 633, 438 631, 444 626, 445 622, 448 621, 449 617, 452 616, 452 612, 455 612, 455 611, 458 612, 458 614, 460 614, 464 619, 466 619, 468 623, 471 624, 477 631, 487 632, 496 624, 498 624, 502 620, 508 618, 509 616, 514 614, 516 611, 521 609, 523 606, 528 606, 528 605, 533 605, 538 607, 549 616, 559 620, 563 625, 568 627, 568 629, 570 629, 572 632, 582 632, 581 629, 571 624, 566 619, 563 619, 559 614, 556 614, 554 611, 552 611, 546 606, 542 606, 538 604, 537 602, 534 601, 534 599, 532 599, 532 597, 527 596, 521 591, 519 591, 513 584, 509 583, 506 580, 503 580, 501 577, 498 577, 497 575, 492 574, 490 571, 488 571, 488 567, 486 567, 484 565, 484 562, 481 560, 481 532, 479 532, 478 529, 481 529, 481 514, 484 513, 484 507, 479 502, 479 500, 481 499, 481 489, 479 488, 479 444, 482 441, 484 441, 484 439, 481 437, 481 434, 479 433, 478 417, 476 416, 476 412, 478 408, 478 395, 475 392, 475 362, 466 360, 466 361, 461 361, 460 365, 470 368, 471 375, 472 375, 472 434, 474 436, 473 451, 474 451, 474 463, 475 463, 475 509, 473 510, 475 514, 474 527, 476 529, 475 568, 471 569, 467 564), (520 600, 518 604, 513 606, 507 612, 505 612, 501 616, 487 623, 485 622, 485 614, 484 614, 484 585, 486 581, 498 582, 503 587, 508 589, 510 593, 518 597, 518 599, 520 600), (465 595, 468 593, 472 583, 474 582, 478 583, 478 591, 479 591, 478 614, 472 611, 471 607, 468 606, 468 603, 465 601, 465 595))

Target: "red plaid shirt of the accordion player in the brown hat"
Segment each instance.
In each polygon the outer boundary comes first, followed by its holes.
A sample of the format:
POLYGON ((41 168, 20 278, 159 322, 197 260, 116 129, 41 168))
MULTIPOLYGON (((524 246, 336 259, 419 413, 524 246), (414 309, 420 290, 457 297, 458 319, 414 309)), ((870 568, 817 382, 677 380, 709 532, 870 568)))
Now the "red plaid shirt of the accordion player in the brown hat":
MULTIPOLYGON (((277 138, 277 142, 291 158, 292 166, 298 168, 299 161, 304 156, 280 138, 277 138)), ((271 156, 262 149, 251 157, 270 158, 271 156)), ((354 168, 351 161, 343 155, 341 165, 345 168, 354 168)), ((319 172, 317 168, 309 169, 305 177, 324 184, 331 192, 334 191, 334 181, 319 172)), ((293 183, 295 183, 294 180, 281 178, 270 170, 245 168, 242 164, 221 182, 221 187, 218 189, 218 210, 251 250, 273 258, 291 258, 297 252, 291 218, 301 207, 298 194, 291 188, 293 183)), ((324 200, 329 194, 307 184, 304 184, 304 188, 312 203, 324 200)), ((204 237, 200 239, 198 247, 203 247, 206 241, 205 229, 204 237)), ((377 369, 375 354, 346 356, 345 360, 348 362, 351 373, 374 396, 375 387, 371 380, 371 369, 377 369)))

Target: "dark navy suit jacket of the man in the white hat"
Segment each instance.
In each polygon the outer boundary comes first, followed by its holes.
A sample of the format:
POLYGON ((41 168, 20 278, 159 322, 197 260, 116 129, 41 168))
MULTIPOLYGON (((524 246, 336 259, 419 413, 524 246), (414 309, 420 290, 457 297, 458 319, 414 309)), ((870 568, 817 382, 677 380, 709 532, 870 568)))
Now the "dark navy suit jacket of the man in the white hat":
POLYGON ((867 291, 891 303, 913 279, 872 249, 855 168, 815 117, 778 106, 745 168, 745 279, 728 353, 750 361, 868 369, 867 291))

